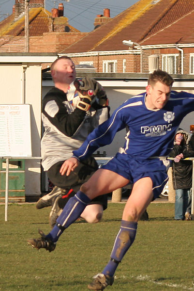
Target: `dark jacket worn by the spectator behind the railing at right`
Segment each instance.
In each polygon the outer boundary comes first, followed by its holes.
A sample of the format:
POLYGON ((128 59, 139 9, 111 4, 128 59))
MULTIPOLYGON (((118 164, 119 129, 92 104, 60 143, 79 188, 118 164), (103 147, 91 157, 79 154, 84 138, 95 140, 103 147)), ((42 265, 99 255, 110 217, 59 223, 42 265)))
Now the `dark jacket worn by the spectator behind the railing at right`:
MULTIPOLYGON (((175 158, 180 153, 183 154, 183 159, 194 157, 194 148, 192 148, 192 142, 194 143, 194 137, 190 137, 188 132, 184 130, 178 130, 177 133, 182 132, 186 135, 186 143, 175 145, 169 154, 169 157, 175 158), (191 140, 190 140, 191 139, 191 140)), ((172 181, 174 190, 186 189, 192 187, 192 161, 172 162, 172 181)))

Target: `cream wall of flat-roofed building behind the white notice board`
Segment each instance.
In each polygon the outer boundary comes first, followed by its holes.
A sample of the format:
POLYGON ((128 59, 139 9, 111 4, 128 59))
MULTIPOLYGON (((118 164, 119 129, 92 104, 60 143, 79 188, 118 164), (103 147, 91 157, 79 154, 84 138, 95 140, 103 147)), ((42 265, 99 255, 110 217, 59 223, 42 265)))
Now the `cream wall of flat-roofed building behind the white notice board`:
MULTIPOLYGON (((30 104, 32 157, 40 157, 42 63, 57 56, 0 56, 1 104, 30 104)), ((22 158, 21 158, 22 159, 22 158)), ((41 194, 40 160, 25 162, 25 194, 41 194)))

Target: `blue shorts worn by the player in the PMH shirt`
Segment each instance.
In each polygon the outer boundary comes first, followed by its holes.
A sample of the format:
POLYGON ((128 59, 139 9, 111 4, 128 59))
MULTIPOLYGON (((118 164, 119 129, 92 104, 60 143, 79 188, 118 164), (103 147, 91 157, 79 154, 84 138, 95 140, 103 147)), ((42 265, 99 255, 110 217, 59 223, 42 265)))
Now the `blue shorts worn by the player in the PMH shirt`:
POLYGON ((160 159, 140 160, 124 153, 117 153, 101 168, 113 171, 130 180, 130 184, 134 184, 141 178, 150 177, 153 183, 153 199, 156 199, 168 181, 167 169, 169 164, 170 162, 164 164, 160 159))

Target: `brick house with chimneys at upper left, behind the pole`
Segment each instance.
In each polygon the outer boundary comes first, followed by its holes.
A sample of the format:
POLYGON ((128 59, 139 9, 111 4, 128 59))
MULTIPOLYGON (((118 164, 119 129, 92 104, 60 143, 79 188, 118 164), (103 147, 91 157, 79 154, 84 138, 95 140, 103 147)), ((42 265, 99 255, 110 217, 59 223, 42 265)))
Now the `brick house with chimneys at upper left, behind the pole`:
MULTIPOLYGON (((79 32, 63 16, 63 4, 45 10, 44 0, 29 3, 29 52, 59 52, 88 32, 79 32)), ((12 15, 0 22, 0 52, 25 51, 25 0, 15 0, 12 15)))

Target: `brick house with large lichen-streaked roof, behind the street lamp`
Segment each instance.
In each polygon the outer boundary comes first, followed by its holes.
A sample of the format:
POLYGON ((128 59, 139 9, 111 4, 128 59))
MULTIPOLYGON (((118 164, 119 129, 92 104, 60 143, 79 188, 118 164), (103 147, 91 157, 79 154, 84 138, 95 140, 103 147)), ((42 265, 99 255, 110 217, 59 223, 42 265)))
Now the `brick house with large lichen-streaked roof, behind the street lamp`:
POLYGON ((171 74, 194 74, 194 0, 139 0, 76 43, 62 50, 75 64, 97 72, 142 72, 160 67, 171 74))

